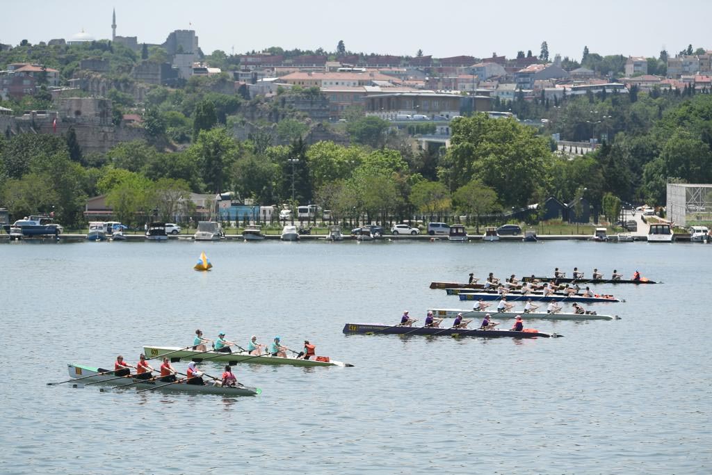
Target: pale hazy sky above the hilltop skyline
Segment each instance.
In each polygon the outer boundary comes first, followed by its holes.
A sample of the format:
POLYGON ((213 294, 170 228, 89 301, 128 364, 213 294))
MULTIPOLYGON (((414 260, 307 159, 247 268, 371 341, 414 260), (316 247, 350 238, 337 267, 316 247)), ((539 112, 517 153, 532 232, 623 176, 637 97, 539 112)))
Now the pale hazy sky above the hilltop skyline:
POLYGON ((324 48, 339 40, 350 51, 412 55, 421 48, 435 57, 493 52, 508 57, 528 49, 539 54, 547 41, 555 53, 580 60, 592 53, 658 56, 690 43, 712 49, 711 0, 590 1, 239 1, 97 0, 3 2, 0 43, 69 39, 82 29, 111 38, 116 9, 117 35, 162 43, 170 31, 194 29, 209 54, 324 48))

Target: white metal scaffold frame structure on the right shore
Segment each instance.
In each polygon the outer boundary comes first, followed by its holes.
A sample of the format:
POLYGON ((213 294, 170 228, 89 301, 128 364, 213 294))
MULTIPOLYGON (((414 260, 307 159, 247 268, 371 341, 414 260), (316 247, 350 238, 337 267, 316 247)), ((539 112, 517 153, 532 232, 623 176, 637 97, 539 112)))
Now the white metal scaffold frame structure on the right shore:
POLYGON ((712 222, 712 184, 667 184, 667 217, 676 226, 712 222))

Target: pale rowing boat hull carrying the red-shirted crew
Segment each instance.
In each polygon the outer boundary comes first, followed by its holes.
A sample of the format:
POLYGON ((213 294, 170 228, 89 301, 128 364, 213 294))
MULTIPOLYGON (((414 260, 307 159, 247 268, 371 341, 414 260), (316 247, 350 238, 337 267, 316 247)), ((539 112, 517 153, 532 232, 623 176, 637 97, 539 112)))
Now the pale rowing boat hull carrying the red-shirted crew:
MULTIPOLYGON (((125 377, 121 379, 116 379, 114 372, 108 372, 108 374, 101 375, 99 373, 107 372, 108 370, 103 370, 98 367, 90 367, 84 365, 67 365, 69 370, 69 377, 82 377, 83 384, 88 382, 100 384, 100 385, 111 385, 113 387, 121 387, 125 385, 131 385, 130 387, 136 388, 138 390, 157 390, 165 392, 192 392, 199 394, 210 394, 210 395, 223 395, 223 396, 256 396, 262 392, 258 387, 222 387, 214 386, 211 384, 206 385, 187 385, 184 382, 178 382, 173 385, 169 385, 167 382, 162 382, 160 380, 155 381, 143 381, 137 380, 133 377, 125 377), (95 375, 87 377, 90 375, 95 375)), ((78 385, 80 383, 74 383, 78 385)))

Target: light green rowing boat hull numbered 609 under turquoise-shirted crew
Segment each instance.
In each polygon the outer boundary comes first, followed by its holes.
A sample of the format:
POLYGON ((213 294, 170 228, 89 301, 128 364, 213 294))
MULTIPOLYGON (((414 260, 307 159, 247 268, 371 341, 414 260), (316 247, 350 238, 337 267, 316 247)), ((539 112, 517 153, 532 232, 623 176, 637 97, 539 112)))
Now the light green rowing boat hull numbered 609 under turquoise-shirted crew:
POLYGON ((171 353, 171 360, 181 359, 181 360, 193 360, 195 362, 201 362, 202 360, 216 361, 216 362, 227 362, 229 365, 236 365, 239 362, 255 363, 257 365, 293 365, 293 366, 353 366, 348 363, 334 361, 328 357, 322 357, 321 359, 326 361, 318 360, 303 360, 297 359, 295 357, 278 357, 278 356, 268 356, 262 355, 256 357, 255 355, 250 355, 249 353, 218 353, 216 351, 194 351, 194 350, 181 350, 179 346, 144 346, 144 354, 151 358, 157 358, 166 353, 171 353), (179 350, 179 351, 177 351, 179 350))

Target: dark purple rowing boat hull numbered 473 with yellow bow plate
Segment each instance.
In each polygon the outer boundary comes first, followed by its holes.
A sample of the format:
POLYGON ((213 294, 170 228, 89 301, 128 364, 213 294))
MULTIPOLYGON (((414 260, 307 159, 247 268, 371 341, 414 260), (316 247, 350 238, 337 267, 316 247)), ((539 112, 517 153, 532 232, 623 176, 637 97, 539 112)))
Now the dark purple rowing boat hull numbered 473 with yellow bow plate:
POLYGON ((525 328, 524 331, 515 332, 514 330, 478 330, 473 328, 436 328, 436 327, 408 327, 408 326, 390 326, 382 323, 347 323, 344 325, 343 333, 356 334, 383 334, 383 335, 430 335, 430 336, 479 336, 484 338, 544 338, 562 336, 557 333, 541 333, 538 330, 525 328))

